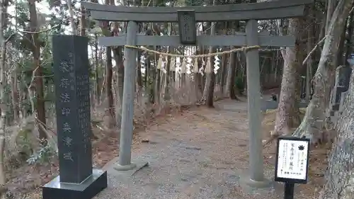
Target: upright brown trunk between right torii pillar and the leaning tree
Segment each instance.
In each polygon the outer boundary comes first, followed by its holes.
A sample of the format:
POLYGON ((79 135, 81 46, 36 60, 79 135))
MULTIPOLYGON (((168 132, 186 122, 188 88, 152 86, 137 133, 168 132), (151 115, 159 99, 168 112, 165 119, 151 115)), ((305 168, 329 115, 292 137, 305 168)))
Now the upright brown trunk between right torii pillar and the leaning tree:
POLYGON ((287 47, 283 53, 284 67, 282 71, 282 86, 278 111, 275 118, 274 131, 272 136, 290 133, 290 129, 299 125, 299 108, 296 101, 296 86, 299 81, 299 28, 302 27, 304 19, 291 18, 289 20, 289 34, 294 35, 297 41, 295 47, 287 47))

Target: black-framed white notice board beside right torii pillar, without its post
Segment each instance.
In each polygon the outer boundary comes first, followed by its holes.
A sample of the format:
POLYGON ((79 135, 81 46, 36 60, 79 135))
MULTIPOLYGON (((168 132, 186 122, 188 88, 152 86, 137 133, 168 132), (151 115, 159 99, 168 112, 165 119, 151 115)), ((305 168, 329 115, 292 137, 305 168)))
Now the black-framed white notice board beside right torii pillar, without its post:
POLYGON ((307 183, 310 140, 279 137, 275 160, 275 181, 307 183))

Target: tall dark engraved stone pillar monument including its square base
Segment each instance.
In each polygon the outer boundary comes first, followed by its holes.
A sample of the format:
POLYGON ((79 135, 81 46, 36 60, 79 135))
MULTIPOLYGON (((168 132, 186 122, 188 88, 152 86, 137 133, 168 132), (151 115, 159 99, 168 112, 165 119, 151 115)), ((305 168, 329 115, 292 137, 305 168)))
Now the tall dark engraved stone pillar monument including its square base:
POLYGON ((107 187, 107 173, 92 167, 88 39, 52 39, 59 176, 42 186, 43 199, 90 199, 107 187))

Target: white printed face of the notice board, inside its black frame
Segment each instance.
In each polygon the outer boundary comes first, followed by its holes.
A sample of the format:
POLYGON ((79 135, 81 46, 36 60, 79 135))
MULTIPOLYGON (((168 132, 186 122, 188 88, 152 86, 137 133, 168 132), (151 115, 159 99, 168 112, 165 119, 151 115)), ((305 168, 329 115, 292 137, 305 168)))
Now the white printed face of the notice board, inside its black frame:
POLYGON ((279 140, 278 178, 305 180, 307 176, 308 142, 279 140))

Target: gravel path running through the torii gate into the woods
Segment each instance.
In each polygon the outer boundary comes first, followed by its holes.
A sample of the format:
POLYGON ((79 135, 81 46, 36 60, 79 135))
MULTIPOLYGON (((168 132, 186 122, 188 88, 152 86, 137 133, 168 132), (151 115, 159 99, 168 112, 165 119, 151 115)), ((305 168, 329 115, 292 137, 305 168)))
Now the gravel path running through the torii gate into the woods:
MULTIPOLYGON (((139 132, 149 142, 135 146, 132 157, 149 166, 131 175, 108 164, 109 187, 96 199, 282 198, 281 184, 253 189, 240 183, 249 166, 247 128, 246 103, 225 100, 139 132)), ((273 177, 271 164, 265 176, 273 177)))

